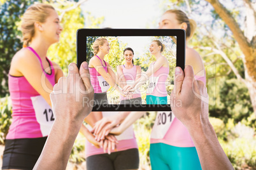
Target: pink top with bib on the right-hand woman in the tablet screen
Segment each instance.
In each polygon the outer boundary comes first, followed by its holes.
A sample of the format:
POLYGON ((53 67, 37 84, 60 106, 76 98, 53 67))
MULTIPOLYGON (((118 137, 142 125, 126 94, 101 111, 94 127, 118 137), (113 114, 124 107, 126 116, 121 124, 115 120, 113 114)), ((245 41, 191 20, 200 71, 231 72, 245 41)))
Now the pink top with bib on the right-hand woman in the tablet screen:
MULTIPOLYGON (((152 65, 155 62, 152 63, 152 65)), ((148 89, 151 88, 151 91, 146 91, 146 95, 153 95, 158 97, 167 96, 166 91, 166 79, 169 75, 169 67, 160 67, 154 74, 150 76, 150 79, 154 81, 150 81, 148 84, 148 89)))

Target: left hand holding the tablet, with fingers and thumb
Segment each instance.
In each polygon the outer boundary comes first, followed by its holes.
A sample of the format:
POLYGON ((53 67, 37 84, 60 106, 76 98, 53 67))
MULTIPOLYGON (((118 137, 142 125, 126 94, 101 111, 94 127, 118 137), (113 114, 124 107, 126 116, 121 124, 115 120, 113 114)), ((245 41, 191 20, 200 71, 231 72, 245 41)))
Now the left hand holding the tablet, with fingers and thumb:
POLYGON ((90 84, 88 63, 83 62, 80 70, 75 63, 69 64, 68 77, 60 77, 53 87, 50 99, 55 121, 61 123, 81 122, 82 124, 83 119, 92 112, 93 105, 90 104, 90 101, 94 100, 94 89, 90 84), (83 101, 87 101, 87 103, 83 101))

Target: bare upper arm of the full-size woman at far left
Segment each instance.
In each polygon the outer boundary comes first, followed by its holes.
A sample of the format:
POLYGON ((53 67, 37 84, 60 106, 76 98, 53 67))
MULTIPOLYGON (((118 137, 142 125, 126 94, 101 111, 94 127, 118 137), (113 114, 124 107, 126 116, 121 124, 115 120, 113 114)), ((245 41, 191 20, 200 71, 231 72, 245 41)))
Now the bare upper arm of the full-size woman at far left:
POLYGON ((43 73, 41 64, 38 58, 34 56, 34 53, 28 49, 18 51, 11 61, 10 74, 12 74, 12 71, 18 72, 20 76, 24 75, 29 84, 31 84, 31 86, 43 96, 50 107, 52 107, 50 93, 53 90, 53 86, 43 73))

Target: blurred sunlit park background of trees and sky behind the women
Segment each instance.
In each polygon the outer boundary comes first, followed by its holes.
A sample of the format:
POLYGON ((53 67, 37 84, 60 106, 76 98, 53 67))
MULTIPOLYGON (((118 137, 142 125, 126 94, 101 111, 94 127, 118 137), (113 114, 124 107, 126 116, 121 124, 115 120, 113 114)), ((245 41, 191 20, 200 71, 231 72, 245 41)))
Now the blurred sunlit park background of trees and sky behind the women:
MULTIPOLYGON (((22 48, 20 18, 33 3, 52 4, 60 15, 64 30, 47 56, 59 63, 64 74, 68 64, 76 62, 77 29, 157 28, 164 11, 185 11, 197 22, 196 34, 188 46, 196 49, 204 61, 210 122, 218 140, 235 169, 256 169, 256 2, 253 0, 0 0, 0 166, 11 124, 10 62, 22 48)), ((141 169, 150 169, 149 136, 154 119, 155 112, 148 112, 134 124, 141 169)), ((85 138, 78 134, 67 169, 85 169, 85 149, 85 138)))

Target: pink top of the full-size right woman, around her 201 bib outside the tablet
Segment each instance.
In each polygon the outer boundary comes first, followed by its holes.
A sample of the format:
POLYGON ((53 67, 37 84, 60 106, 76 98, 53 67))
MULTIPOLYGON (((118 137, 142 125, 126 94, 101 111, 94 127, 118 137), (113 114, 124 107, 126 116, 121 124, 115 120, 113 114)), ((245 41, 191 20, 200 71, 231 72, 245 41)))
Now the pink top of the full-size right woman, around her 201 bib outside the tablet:
MULTIPOLYGON (((197 80, 203 81, 206 84, 206 76, 195 76, 197 80)), ((150 143, 166 143, 167 145, 172 145, 174 147, 194 147, 194 142, 188 133, 187 128, 174 117, 173 122, 164 138, 162 139, 150 139, 150 143)))

